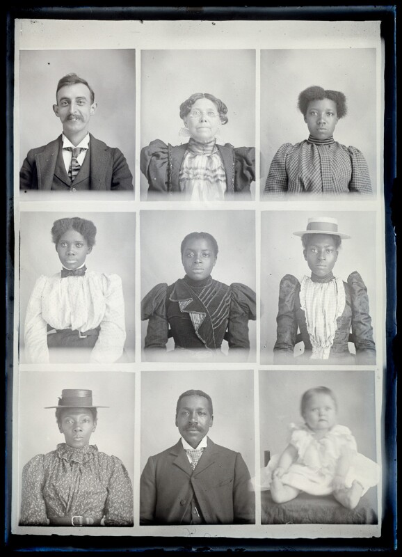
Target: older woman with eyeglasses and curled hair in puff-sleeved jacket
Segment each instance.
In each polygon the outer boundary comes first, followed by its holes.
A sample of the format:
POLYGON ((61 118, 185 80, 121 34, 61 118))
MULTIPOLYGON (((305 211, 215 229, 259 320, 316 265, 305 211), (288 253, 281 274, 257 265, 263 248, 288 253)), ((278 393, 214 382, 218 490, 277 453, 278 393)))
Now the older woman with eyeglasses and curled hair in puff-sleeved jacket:
POLYGON ((218 145, 220 125, 228 121, 224 102, 210 93, 195 93, 180 105, 180 118, 190 139, 166 145, 160 139, 141 150, 140 169, 148 181, 148 197, 180 194, 184 201, 231 201, 250 198, 255 180, 255 148, 218 145))

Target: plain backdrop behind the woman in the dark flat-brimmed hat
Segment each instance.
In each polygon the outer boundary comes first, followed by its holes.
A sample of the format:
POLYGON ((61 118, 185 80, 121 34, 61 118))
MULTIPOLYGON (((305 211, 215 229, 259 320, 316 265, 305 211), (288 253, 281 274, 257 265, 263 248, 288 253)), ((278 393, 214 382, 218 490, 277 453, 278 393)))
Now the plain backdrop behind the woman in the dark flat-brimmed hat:
POLYGON ((45 455, 64 443, 58 430, 56 409, 63 389, 90 389, 97 411, 97 427, 90 445, 120 458, 131 483, 134 480, 134 373, 123 372, 23 372, 19 375, 19 478, 35 455, 45 455))

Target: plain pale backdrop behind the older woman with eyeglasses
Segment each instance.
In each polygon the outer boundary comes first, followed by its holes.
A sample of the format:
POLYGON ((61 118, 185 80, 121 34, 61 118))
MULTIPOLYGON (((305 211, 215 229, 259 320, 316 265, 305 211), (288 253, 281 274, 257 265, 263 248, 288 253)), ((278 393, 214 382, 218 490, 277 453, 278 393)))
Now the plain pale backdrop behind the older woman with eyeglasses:
MULTIPOLYGON (((180 104, 194 93, 211 93, 227 106, 229 121, 217 143, 255 146, 254 50, 143 50, 141 52, 141 141, 180 145, 180 104)), ((252 184, 254 190, 255 185, 252 184)), ((148 184, 141 173, 141 199, 148 184)))

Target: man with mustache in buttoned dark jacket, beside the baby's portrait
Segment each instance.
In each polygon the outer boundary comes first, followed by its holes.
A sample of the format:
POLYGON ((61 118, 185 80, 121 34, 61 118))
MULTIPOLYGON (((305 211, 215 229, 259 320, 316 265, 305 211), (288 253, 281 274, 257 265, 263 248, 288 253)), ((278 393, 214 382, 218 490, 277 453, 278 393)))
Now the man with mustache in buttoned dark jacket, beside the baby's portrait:
POLYGON ((216 445, 203 391, 179 396, 176 426, 182 438, 150 457, 140 479, 140 524, 254 524, 250 473, 240 453, 216 445))

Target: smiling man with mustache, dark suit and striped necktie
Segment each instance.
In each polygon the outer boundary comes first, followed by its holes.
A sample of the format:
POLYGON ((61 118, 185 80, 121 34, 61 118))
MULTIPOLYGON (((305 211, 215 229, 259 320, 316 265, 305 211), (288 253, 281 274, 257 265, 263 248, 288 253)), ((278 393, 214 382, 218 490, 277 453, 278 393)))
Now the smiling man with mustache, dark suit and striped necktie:
POLYGON ((20 189, 133 189, 133 177, 122 152, 88 132, 96 109, 95 94, 85 79, 72 73, 58 81, 53 110, 61 120, 63 134, 29 151, 19 173, 20 189))

